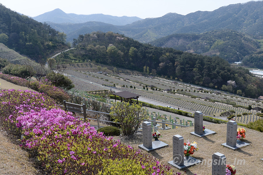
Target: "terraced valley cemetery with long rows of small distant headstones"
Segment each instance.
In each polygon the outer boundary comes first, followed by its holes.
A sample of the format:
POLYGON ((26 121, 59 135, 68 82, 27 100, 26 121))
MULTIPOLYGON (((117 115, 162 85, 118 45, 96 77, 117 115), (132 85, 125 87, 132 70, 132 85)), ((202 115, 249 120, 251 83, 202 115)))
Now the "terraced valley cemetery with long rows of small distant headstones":
POLYGON ((263 108, 262 100, 236 96, 234 94, 219 93, 214 90, 197 90, 198 87, 183 84, 181 82, 172 82, 171 80, 161 78, 149 78, 134 75, 116 75, 116 74, 99 74, 96 72, 76 71, 68 69, 65 73, 72 79, 75 84, 75 89, 78 91, 96 91, 96 90, 114 90, 129 91, 131 93, 140 94, 142 97, 160 101, 167 105, 181 108, 182 110, 195 112, 196 109, 202 109, 203 115, 219 116, 225 111, 235 111, 236 122, 240 124, 248 124, 250 121, 259 119, 256 110, 248 110, 244 108, 236 108, 233 105, 252 108, 263 108), (129 79, 129 80, 127 80, 129 79), (115 85, 115 86, 114 86, 115 85), (148 89, 147 86, 154 85, 156 90, 148 89), (132 87, 132 88, 131 88, 132 87), (144 87, 144 88, 143 88, 144 87), (171 92, 164 91, 172 89, 171 92), (204 98, 207 98, 204 100, 204 98), (230 103, 231 102, 231 103, 230 103), (229 104, 230 103, 230 104, 229 104), (242 115, 243 113, 251 113, 250 115, 242 115))

